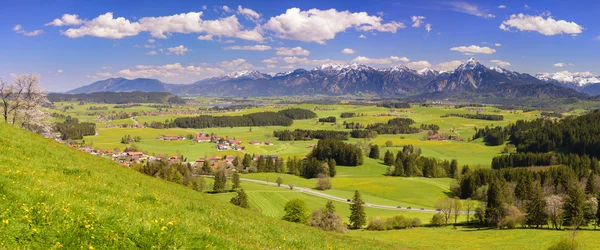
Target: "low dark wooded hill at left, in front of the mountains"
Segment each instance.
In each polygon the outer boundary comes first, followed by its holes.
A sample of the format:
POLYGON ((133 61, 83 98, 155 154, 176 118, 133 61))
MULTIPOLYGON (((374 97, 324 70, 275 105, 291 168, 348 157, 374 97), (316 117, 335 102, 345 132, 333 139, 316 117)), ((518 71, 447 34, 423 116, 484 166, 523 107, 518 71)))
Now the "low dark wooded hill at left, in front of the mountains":
POLYGON ((94 92, 89 94, 48 94, 51 102, 83 101, 97 103, 185 103, 179 96, 166 92, 94 92))

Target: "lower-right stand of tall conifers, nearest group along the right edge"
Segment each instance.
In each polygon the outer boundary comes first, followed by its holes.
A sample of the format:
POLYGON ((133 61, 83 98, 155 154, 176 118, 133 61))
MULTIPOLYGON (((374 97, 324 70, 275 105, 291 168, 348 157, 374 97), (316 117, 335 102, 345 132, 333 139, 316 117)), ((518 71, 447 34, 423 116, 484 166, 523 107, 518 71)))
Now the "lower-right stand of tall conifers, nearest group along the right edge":
POLYGON ((598 176, 588 171, 579 178, 569 167, 541 171, 523 168, 463 169, 454 192, 461 198, 486 202, 483 224, 512 228, 516 225, 579 228, 598 224, 598 176))

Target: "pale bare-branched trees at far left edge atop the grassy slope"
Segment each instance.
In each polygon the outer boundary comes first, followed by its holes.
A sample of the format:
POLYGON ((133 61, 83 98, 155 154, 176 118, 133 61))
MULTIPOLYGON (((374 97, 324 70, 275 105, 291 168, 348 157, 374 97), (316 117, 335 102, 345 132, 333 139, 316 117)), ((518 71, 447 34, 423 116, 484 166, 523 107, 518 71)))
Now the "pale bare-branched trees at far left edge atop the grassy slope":
POLYGON ((42 110, 42 105, 49 102, 39 80, 36 74, 17 76, 12 83, 0 79, 0 108, 5 123, 36 133, 51 130, 49 116, 42 110))

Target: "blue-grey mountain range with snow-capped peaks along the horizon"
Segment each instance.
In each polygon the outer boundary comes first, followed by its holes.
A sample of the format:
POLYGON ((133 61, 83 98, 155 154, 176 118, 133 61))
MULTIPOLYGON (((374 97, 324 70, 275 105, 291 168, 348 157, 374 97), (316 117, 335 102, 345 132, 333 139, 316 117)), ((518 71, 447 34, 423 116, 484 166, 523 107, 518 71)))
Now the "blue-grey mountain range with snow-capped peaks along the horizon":
POLYGON ((577 91, 591 95, 600 94, 600 77, 588 73, 567 73, 558 72, 532 76, 500 67, 487 67, 471 58, 456 69, 445 72, 428 68, 413 70, 403 65, 376 69, 362 64, 324 64, 312 70, 296 69, 273 76, 258 71, 240 71, 191 84, 168 84, 148 78, 132 80, 110 78, 73 89, 67 93, 146 91, 203 96, 376 95, 402 97, 436 92, 446 94, 482 93, 505 88, 504 93, 514 90, 514 93, 531 94, 531 90, 537 90, 536 93, 544 93, 544 95, 554 93, 554 96, 550 96, 554 98, 577 96, 577 91), (523 86, 529 90, 523 91, 523 86))

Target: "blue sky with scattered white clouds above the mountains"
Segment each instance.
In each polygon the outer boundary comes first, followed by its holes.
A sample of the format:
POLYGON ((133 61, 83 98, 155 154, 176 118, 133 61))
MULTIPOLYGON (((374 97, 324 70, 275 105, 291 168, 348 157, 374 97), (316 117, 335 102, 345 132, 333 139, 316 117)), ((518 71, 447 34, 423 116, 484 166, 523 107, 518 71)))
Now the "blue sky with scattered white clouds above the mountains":
POLYGON ((476 57, 600 75, 600 1, 29 1, 0 9, 0 77, 48 91, 323 63, 449 70, 476 57), (226 7, 225 7, 226 6, 226 7))

